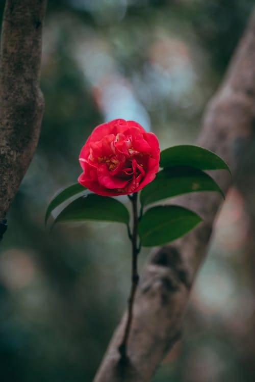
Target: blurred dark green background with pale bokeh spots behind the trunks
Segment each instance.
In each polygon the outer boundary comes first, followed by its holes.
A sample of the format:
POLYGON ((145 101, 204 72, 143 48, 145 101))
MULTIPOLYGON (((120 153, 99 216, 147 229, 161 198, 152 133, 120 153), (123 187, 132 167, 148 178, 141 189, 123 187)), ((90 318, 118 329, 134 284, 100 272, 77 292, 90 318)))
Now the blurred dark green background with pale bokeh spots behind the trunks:
MULTIPOLYGON (((1 1, 1 15, 4 1, 1 1)), ((193 143, 254 0, 48 1, 39 145, 8 213, 0 253, 2 382, 89 382, 126 306, 131 246, 108 223, 44 228, 76 182, 99 123, 134 119, 161 149, 193 143)), ((184 336, 153 382, 254 382, 254 237, 232 189, 200 270, 184 336)), ((149 251, 143 249, 142 269, 149 251)))

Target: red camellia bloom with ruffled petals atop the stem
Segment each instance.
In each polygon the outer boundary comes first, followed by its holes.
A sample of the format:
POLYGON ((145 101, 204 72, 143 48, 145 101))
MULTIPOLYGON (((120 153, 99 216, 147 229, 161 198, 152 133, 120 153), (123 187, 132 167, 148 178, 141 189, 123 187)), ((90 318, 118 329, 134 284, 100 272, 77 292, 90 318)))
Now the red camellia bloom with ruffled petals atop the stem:
POLYGON ((154 180, 159 159, 155 134, 137 122, 114 119, 97 126, 83 146, 78 181, 98 195, 131 194, 154 180))

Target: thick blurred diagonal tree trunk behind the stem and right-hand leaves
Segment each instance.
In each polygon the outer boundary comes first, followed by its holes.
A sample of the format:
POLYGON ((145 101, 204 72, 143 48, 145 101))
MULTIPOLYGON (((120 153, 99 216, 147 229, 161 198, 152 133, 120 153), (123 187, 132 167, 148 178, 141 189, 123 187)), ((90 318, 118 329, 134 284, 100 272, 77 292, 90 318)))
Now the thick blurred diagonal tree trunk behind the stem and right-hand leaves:
MULTIPOLYGON (((231 166, 252 135, 255 121, 255 14, 234 55, 225 79, 203 118, 197 145, 211 149, 231 166)), ((215 179, 226 191, 226 171, 215 179)), ((179 338, 190 288, 205 258, 213 222, 222 199, 216 193, 191 194, 175 202, 203 217, 189 235, 158 248, 146 265, 135 299, 134 321, 127 343, 130 362, 121 364, 118 345, 125 316, 117 327, 94 382, 149 381, 164 355, 179 338)))

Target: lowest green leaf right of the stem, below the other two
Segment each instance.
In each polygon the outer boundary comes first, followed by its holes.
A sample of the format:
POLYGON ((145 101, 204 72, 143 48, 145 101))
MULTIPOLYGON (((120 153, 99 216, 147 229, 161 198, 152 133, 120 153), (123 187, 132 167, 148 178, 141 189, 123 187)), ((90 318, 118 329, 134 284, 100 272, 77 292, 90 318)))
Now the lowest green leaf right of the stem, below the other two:
POLYGON ((153 247, 175 240, 192 230, 202 219, 179 206, 152 207, 138 224, 141 245, 153 247))

